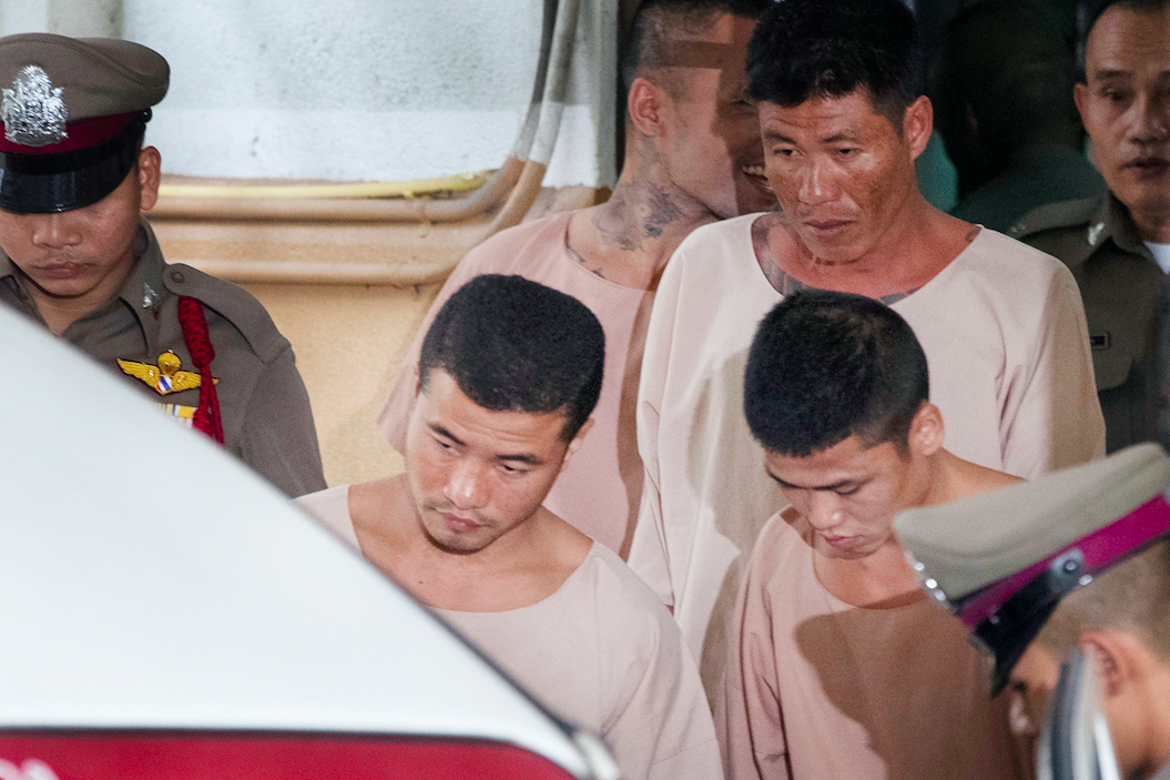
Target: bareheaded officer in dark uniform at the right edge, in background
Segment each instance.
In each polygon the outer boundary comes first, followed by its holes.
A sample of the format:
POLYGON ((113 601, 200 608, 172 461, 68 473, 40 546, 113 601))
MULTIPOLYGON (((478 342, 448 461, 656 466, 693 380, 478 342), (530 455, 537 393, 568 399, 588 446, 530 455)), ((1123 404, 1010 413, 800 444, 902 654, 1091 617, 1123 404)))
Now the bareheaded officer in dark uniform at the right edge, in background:
POLYGON ((1108 451, 1170 446, 1170 0, 1104 2, 1085 60, 1074 98, 1109 191, 1041 206, 1007 233, 1080 285, 1108 451))

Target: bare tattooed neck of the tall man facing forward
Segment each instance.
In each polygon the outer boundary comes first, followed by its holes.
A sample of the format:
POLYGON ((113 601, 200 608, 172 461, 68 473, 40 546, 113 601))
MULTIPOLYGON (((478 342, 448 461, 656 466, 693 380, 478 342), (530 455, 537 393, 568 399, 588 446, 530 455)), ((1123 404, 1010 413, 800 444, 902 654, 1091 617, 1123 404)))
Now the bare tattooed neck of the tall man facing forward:
POLYGON ((907 200, 873 247, 840 262, 817 258, 785 214, 763 217, 752 231, 760 269, 782 294, 813 287, 893 303, 934 279, 979 232, 942 213, 917 191, 907 200))

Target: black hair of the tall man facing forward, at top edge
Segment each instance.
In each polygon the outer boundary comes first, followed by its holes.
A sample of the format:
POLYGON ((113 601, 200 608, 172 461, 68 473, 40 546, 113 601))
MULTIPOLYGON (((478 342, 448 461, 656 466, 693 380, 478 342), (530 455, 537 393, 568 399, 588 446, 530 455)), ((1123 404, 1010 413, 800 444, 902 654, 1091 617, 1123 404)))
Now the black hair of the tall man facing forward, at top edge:
POLYGON ((748 94, 783 107, 865 89, 901 131, 923 93, 914 14, 901 0, 783 0, 748 47, 748 94))

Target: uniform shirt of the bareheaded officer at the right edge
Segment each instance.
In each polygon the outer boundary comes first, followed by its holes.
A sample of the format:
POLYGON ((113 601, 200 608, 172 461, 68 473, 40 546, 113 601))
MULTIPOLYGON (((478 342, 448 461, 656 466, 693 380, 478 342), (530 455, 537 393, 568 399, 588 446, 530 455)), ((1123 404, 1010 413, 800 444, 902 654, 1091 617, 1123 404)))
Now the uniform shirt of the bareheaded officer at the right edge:
POLYGON ((1058 258, 1076 279, 1109 452, 1138 442, 1170 446, 1170 290, 1126 206, 1109 193, 1049 204, 1009 235, 1058 258))

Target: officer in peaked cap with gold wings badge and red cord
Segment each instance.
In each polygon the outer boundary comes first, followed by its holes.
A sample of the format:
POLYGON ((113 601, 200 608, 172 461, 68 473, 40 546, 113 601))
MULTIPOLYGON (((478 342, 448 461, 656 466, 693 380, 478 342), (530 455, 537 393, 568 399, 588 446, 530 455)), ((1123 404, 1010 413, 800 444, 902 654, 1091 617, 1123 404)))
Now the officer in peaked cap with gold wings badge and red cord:
POLYGON ((289 495, 323 490, 289 342, 241 288, 164 262, 142 218, 160 177, 143 136, 168 76, 128 41, 0 39, 0 301, 289 495))

